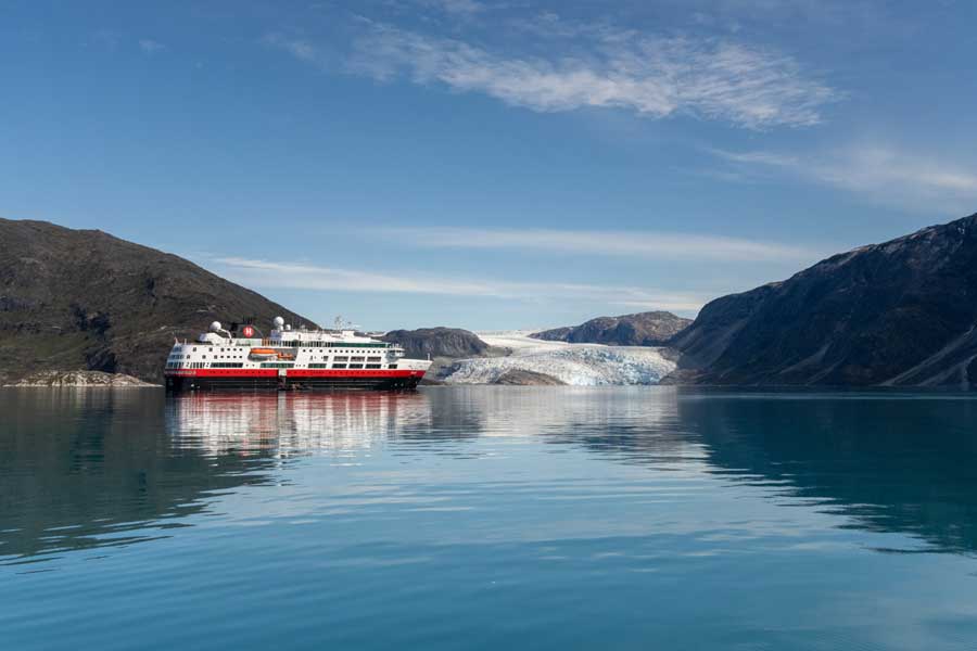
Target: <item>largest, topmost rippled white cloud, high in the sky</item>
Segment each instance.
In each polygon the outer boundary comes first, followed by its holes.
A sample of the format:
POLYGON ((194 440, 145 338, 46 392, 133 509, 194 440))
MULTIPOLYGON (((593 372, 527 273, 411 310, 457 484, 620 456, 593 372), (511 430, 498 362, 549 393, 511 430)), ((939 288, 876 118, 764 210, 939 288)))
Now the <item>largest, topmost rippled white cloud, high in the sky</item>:
MULTIPOLYGON (((480 7, 462 0, 439 4, 458 11, 480 7)), ((533 24, 550 40, 534 54, 524 49, 518 54, 511 43, 480 46, 363 18, 344 67, 381 82, 404 78, 536 112, 621 108, 648 118, 690 115, 749 129, 815 125, 823 107, 843 95, 771 49, 553 17, 533 24)), ((323 65, 308 40, 271 34, 263 42, 323 65)))

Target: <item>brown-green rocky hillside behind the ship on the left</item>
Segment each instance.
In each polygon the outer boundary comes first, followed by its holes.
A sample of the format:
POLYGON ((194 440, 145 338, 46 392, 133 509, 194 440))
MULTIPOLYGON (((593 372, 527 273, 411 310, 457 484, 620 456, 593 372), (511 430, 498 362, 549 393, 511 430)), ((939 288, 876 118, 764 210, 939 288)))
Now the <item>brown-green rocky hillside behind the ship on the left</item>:
POLYGON ((175 255, 45 221, 0 219, 0 383, 43 370, 150 382, 174 337, 211 321, 312 321, 175 255))

